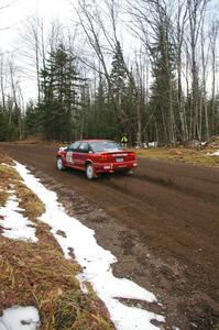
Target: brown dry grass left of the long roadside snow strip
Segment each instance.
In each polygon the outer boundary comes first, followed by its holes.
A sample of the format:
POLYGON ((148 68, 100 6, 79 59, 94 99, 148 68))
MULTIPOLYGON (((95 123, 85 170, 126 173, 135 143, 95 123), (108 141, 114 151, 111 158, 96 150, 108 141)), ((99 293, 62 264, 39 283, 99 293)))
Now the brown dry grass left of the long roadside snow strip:
MULTIPOLYGON (((4 163, 11 161, 4 158, 4 163)), ((47 224, 37 220, 44 206, 21 183, 11 167, 0 165, 0 206, 13 190, 24 215, 36 228, 37 243, 9 240, 0 235, 0 311, 13 306, 35 306, 42 329, 108 330, 114 329, 103 304, 89 287, 80 289, 76 275, 80 266, 63 256, 62 250, 47 224), (2 191, 4 191, 2 194, 2 191)))

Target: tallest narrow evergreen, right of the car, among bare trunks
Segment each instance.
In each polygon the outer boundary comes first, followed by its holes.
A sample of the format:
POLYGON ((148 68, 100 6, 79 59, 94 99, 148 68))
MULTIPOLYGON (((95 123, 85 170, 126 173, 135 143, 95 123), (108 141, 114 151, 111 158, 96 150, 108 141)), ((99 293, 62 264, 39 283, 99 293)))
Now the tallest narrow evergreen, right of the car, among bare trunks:
POLYGON ((162 144, 168 144, 176 141, 175 54, 166 9, 157 4, 157 12, 156 36, 151 47, 154 81, 151 87, 150 109, 156 122, 157 136, 154 139, 162 144))

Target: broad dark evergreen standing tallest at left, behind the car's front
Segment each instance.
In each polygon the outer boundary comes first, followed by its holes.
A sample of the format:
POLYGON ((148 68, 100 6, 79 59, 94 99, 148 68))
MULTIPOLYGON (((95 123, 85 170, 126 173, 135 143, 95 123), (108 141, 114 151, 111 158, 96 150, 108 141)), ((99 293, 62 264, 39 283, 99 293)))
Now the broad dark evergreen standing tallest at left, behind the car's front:
POLYGON ((48 140, 70 141, 76 136, 74 130, 81 106, 78 90, 83 79, 78 77, 75 63, 75 56, 61 44, 41 72, 43 101, 40 109, 48 140))

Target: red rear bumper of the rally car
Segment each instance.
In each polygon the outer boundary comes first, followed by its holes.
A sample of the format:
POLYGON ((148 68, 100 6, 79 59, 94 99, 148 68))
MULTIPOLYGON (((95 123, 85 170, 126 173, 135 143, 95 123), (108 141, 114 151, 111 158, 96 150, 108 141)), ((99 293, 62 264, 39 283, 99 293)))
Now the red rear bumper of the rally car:
POLYGON ((99 163, 95 164, 96 173, 113 173, 130 170, 136 168, 136 162, 123 162, 123 163, 99 163))

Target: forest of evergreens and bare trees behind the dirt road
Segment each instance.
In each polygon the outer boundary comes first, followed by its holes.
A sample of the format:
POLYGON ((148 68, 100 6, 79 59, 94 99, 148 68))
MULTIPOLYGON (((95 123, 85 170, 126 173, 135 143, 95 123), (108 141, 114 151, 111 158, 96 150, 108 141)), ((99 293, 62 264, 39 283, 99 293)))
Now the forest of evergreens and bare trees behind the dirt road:
POLYGON ((78 0, 69 26, 29 16, 19 51, 0 54, 0 141, 209 141, 219 134, 218 10, 213 0, 78 0), (24 76, 35 98, 24 98, 24 76))

